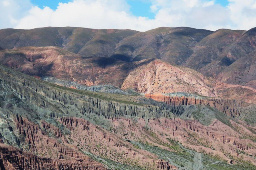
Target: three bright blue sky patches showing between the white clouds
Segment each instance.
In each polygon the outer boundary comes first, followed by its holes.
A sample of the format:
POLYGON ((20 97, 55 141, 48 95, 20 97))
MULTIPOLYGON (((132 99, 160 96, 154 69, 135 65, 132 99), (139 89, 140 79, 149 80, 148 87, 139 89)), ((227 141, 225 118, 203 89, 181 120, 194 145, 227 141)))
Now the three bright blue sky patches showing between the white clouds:
MULTIPOLYGON (((67 3, 72 0, 31 0, 33 5, 36 5, 40 8, 44 6, 48 6, 51 9, 55 10, 60 2, 67 3)), ((131 6, 130 12, 135 16, 148 17, 149 19, 153 19, 155 14, 150 10, 150 6, 152 5, 150 0, 126 0, 127 3, 131 6)), ((220 4, 222 6, 228 5, 228 0, 215 0, 216 4, 220 4)))

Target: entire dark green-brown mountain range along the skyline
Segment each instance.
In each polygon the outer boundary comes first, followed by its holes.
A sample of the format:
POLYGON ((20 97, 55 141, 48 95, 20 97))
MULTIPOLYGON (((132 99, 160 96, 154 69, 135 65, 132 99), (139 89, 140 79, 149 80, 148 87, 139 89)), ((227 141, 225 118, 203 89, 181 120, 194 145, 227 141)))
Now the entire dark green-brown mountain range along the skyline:
POLYGON ((146 32, 73 27, 3 29, 0 30, 0 49, 56 46, 82 57, 112 58, 99 61, 107 64, 115 62, 113 58, 128 62, 157 58, 195 69, 224 83, 255 88, 255 30, 212 32, 186 27, 161 27, 146 32), (246 64, 240 65, 244 60, 246 64))

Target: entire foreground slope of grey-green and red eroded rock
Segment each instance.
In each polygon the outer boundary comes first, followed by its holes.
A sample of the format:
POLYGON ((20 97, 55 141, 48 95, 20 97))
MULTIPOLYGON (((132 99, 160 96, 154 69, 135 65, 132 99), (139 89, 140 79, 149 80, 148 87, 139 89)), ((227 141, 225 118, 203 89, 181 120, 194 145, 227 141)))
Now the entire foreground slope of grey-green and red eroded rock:
POLYGON ((214 108, 190 105, 175 112, 176 106, 140 96, 69 89, 0 68, 2 167, 27 169, 26 160, 42 169, 49 164, 216 169, 208 162, 217 161, 217 168, 253 169, 256 164, 255 128, 214 108))

